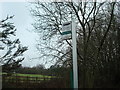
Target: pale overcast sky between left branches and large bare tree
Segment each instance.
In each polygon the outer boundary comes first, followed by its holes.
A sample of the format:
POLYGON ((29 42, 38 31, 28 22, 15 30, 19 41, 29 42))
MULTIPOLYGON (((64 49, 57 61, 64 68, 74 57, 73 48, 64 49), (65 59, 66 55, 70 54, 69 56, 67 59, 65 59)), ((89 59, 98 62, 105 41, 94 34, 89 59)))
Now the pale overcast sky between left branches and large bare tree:
POLYGON ((35 66, 43 63, 35 48, 38 36, 32 31, 33 19, 29 12, 28 2, 0 2, 0 19, 5 19, 7 15, 15 15, 11 22, 17 28, 16 37, 20 39, 23 46, 28 46, 28 51, 24 53, 25 60, 23 66, 35 66))

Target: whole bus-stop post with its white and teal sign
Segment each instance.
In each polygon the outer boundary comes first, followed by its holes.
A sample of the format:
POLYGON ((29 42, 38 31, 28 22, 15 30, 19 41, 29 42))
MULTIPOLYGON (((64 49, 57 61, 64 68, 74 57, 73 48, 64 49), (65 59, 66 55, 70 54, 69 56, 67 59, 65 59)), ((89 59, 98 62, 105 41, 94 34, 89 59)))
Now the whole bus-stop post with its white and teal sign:
POLYGON ((77 50, 76 50, 76 24, 74 21, 63 24, 62 35, 70 34, 72 31, 72 55, 73 55, 73 81, 74 88, 78 88, 78 67, 77 67, 77 50))

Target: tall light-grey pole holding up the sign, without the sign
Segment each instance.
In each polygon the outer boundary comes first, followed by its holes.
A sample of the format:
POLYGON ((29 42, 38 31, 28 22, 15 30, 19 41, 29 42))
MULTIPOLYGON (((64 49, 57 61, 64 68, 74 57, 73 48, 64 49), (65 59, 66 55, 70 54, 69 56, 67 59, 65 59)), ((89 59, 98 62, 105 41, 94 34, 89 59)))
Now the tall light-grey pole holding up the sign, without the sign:
POLYGON ((78 88, 78 67, 77 67, 77 50, 76 50, 76 24, 72 20, 72 55, 73 55, 73 81, 74 88, 78 88))

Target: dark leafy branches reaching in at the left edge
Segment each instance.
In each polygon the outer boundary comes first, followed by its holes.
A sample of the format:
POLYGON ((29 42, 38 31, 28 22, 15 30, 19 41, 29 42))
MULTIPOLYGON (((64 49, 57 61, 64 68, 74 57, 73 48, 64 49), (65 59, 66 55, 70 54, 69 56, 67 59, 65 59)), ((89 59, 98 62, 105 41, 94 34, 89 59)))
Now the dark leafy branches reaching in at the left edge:
POLYGON ((24 60, 23 53, 27 47, 23 47, 19 39, 13 40, 16 28, 13 23, 9 22, 13 16, 7 16, 0 21, 0 51, 5 53, 0 56, 0 63, 3 72, 13 72, 21 66, 20 62, 24 60))

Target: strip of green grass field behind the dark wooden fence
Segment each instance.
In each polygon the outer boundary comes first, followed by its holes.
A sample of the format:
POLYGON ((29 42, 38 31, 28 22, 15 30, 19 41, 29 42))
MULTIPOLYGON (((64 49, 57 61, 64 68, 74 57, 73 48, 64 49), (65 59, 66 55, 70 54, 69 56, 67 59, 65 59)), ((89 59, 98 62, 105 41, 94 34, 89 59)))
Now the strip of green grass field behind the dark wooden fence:
POLYGON ((39 74, 20 74, 20 73, 15 73, 12 74, 11 76, 5 76, 6 73, 3 74, 3 83, 19 83, 19 84, 30 84, 30 83, 41 83, 41 82, 46 82, 52 79, 55 79, 55 76, 46 76, 46 75, 39 75, 39 74))

